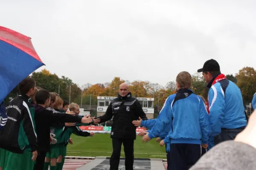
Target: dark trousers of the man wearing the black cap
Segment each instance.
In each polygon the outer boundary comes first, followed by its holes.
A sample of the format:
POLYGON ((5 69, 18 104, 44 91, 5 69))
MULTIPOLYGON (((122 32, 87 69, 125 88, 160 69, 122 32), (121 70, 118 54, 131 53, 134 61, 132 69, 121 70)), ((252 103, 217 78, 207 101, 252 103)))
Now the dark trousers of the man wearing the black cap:
POLYGON ((221 133, 217 136, 214 137, 214 146, 216 144, 219 144, 221 142, 224 141, 228 141, 228 140, 234 140, 236 138, 236 135, 238 135, 238 133, 240 133, 241 131, 243 131, 245 128, 244 127, 239 127, 236 129, 221 129, 221 133))

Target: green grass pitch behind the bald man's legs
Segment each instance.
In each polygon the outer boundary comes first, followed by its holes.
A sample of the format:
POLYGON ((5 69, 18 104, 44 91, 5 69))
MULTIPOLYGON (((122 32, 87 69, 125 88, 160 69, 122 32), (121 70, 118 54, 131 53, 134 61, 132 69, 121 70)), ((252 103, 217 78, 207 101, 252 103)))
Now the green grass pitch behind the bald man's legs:
MULTIPOLYGON (((73 144, 68 144, 67 156, 111 156, 112 140, 110 134, 96 133, 93 137, 72 135, 71 138, 73 144)), ((125 157, 123 146, 121 157, 125 157)), ((142 137, 137 136, 134 141, 134 157, 166 159, 165 147, 160 147, 155 139, 143 143, 142 137)))

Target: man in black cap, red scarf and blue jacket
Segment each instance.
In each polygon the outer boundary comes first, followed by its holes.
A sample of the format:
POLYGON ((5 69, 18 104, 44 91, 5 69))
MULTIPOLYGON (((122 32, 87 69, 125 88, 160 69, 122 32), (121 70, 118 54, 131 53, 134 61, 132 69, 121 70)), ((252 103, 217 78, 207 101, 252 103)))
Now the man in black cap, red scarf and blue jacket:
POLYGON ((240 89, 221 74, 214 59, 207 60, 203 68, 198 69, 200 72, 203 72, 209 88, 207 109, 214 144, 235 139, 247 125, 240 89))

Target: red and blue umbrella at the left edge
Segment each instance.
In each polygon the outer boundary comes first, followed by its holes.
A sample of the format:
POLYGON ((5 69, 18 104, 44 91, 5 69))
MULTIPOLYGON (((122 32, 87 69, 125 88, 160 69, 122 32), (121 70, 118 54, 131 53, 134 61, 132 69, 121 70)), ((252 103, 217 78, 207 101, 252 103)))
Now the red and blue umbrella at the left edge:
POLYGON ((30 37, 0 26, 0 103, 42 65, 30 37))

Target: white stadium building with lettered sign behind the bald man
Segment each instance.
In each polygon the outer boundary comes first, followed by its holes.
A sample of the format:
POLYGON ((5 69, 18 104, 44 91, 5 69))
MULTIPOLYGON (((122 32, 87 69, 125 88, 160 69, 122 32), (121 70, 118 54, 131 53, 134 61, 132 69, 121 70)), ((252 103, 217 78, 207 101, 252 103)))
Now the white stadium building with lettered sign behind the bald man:
MULTIPOLYGON (((105 114, 109 103, 115 99, 116 97, 111 96, 98 96, 98 104, 97 104, 97 116, 102 116, 105 114)), ((140 102, 143 111, 146 113, 148 119, 154 118, 154 98, 145 98, 145 97, 137 97, 140 102)))

